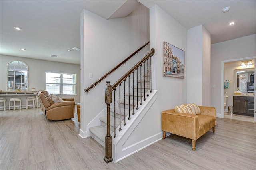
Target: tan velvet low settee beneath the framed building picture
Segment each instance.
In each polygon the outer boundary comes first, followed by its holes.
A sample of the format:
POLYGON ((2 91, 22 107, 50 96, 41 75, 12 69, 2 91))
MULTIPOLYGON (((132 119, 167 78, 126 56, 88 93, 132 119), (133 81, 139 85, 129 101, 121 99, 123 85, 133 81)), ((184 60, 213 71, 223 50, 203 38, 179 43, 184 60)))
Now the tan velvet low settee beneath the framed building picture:
MULTIPOLYGON (((177 107, 177 106, 176 106, 177 107)), ((192 140, 192 150, 196 150, 196 140, 211 128, 215 132, 217 125, 216 108, 198 106, 200 113, 179 113, 175 109, 162 112, 163 139, 166 132, 183 136, 192 140)))

